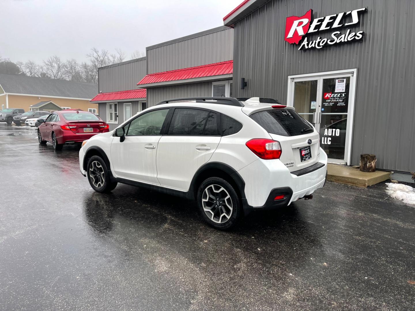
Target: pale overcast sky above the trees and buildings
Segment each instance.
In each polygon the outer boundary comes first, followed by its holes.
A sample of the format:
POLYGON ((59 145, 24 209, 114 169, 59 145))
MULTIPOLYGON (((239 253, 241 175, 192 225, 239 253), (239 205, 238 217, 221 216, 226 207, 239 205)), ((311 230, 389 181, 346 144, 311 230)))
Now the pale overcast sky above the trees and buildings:
POLYGON ((242 0, 0 0, 0 56, 85 61, 89 49, 146 46, 223 25, 242 0))

